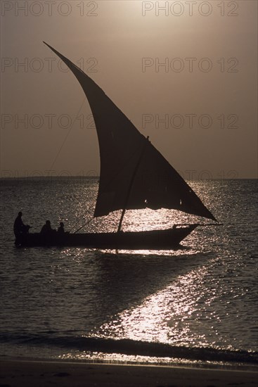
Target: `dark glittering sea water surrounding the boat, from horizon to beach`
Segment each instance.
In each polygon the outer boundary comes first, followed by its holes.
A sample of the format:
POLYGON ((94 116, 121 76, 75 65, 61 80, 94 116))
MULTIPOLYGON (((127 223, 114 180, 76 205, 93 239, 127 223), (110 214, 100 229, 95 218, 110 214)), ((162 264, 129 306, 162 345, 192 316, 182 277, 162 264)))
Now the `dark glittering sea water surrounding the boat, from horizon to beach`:
MULTIPOLYGON (((15 248, 13 221, 116 231, 93 219, 96 178, 1 180, 0 355, 167 364, 257 363, 257 181, 188 182, 217 220, 181 248, 15 248)), ((124 230, 210 223, 174 210, 127 211, 124 230)))

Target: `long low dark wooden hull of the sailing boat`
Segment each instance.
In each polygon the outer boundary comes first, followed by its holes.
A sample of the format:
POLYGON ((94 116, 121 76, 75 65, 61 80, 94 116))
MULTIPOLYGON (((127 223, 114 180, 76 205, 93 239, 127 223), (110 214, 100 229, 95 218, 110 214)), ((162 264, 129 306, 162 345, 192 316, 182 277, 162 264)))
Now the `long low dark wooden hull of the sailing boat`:
POLYGON ((108 248, 120 250, 169 250, 179 246, 179 243, 193 231, 198 224, 172 229, 151 231, 120 231, 86 234, 40 233, 24 234, 15 240, 16 246, 70 246, 86 248, 108 248))

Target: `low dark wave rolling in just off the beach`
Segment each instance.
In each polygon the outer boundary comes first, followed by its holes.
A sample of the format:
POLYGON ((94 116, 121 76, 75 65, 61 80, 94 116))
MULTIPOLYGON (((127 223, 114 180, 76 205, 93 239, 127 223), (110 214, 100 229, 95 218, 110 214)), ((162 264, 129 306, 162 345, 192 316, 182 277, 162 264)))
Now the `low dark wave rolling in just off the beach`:
MULTIPOLYGON (((52 332, 51 332, 52 333, 52 332)), ((120 353, 150 357, 171 357, 207 362, 239 362, 258 364, 258 352, 245 350, 222 350, 216 348, 187 348, 163 343, 134 341, 129 339, 94 338, 82 336, 52 336, 51 334, 30 336, 0 335, 0 343, 32 346, 55 346, 69 350, 83 350, 102 353, 120 353)))

